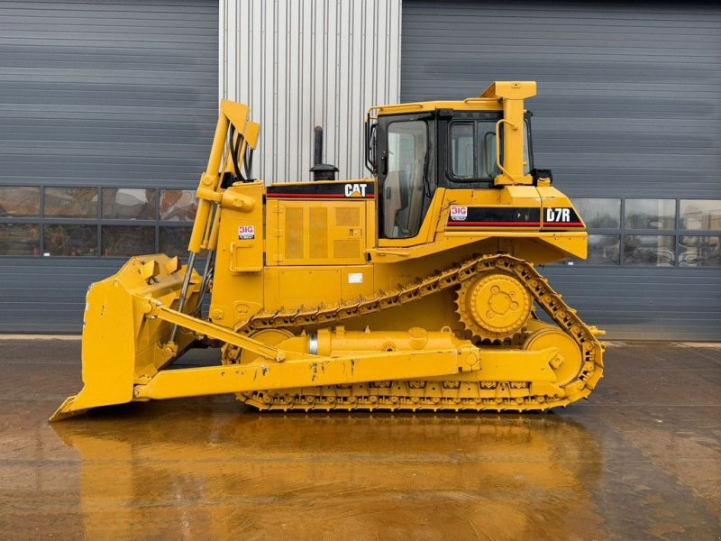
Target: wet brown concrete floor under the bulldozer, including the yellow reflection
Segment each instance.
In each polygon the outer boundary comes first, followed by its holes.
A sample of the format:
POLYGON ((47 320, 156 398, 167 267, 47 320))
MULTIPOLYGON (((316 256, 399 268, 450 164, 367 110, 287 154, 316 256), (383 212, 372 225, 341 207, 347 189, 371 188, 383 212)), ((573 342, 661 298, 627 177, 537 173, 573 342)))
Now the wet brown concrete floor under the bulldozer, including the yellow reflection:
POLYGON ((0 538, 721 538, 721 345, 606 358, 591 400, 552 414, 218 397, 49 425, 79 342, 0 341, 0 538))

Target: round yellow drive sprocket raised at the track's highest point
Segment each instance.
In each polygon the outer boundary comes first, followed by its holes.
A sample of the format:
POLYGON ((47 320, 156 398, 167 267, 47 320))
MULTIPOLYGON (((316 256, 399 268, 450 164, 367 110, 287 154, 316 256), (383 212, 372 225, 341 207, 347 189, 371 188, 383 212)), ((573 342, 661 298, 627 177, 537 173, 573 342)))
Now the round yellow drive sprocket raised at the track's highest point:
POLYGON ((475 338, 503 342, 518 335, 531 316, 533 302, 524 285, 508 274, 482 274, 461 282, 456 311, 475 338))

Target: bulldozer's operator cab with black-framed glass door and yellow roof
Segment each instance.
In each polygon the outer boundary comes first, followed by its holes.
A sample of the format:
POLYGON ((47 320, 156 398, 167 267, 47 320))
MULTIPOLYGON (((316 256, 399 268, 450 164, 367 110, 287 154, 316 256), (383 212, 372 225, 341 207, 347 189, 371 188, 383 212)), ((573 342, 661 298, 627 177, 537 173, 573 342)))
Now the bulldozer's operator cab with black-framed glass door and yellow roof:
MULTIPOLYGON (((522 163, 509 171, 504 137, 505 124, 511 122, 504 119, 503 101, 486 94, 459 102, 371 108, 366 120, 366 167, 378 178, 380 238, 415 237, 437 188, 531 183, 531 113, 521 109, 522 135, 516 137, 520 144, 512 151, 522 146, 522 159, 519 151, 511 158, 522 163)), ((523 106, 522 100, 514 101, 523 106)))

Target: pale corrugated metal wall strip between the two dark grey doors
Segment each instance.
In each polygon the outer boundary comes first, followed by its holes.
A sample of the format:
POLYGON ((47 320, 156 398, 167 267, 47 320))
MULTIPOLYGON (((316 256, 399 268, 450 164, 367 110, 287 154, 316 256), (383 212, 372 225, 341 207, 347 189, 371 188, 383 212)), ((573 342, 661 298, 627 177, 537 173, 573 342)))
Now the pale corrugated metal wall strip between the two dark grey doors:
POLYGON ((261 124, 254 176, 310 179, 313 127, 339 179, 368 176, 363 119, 397 103, 400 0, 221 0, 221 96, 261 124))

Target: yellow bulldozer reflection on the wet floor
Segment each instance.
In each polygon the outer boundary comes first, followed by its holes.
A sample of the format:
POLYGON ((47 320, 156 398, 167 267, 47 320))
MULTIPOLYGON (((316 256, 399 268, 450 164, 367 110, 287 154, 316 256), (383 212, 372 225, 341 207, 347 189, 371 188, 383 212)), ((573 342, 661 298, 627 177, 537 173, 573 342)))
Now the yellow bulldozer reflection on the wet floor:
POLYGON ((250 413, 211 421, 208 413, 187 423, 182 411, 168 414, 162 427, 123 419, 125 436, 118 426, 107 426, 109 437, 95 436, 96 426, 89 434, 54 426, 86 464, 87 534, 113 524, 114 537, 147 533, 149 506, 168 509, 163 522, 178 525, 174 536, 233 527, 291 538, 519 538, 547 521, 561 530, 599 522, 581 481, 598 483, 598 445, 557 417, 250 413), (178 422, 190 426, 178 433, 178 422))

